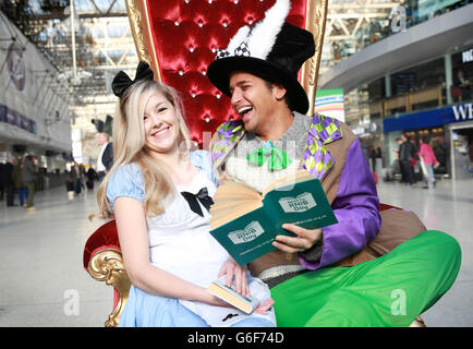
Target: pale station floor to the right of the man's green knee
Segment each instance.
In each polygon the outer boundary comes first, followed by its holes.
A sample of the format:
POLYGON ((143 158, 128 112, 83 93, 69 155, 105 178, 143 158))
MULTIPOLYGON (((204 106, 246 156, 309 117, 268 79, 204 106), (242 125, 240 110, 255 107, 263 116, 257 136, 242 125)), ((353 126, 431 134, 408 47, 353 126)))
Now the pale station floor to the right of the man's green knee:
POLYGON ((462 249, 460 273, 448 291, 423 317, 427 326, 473 326, 473 178, 437 181, 434 190, 379 183, 381 202, 413 210, 427 229, 454 237, 462 249))

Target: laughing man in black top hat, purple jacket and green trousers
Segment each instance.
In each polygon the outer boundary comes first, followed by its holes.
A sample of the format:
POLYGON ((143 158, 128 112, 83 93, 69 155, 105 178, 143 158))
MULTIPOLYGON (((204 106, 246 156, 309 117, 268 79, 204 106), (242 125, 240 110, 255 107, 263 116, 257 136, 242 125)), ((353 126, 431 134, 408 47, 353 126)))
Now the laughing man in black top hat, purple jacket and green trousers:
POLYGON ((426 231, 413 213, 379 213, 356 136, 336 119, 304 116, 308 100, 296 77, 314 40, 284 22, 289 10, 289 0, 278 0, 208 68, 241 116, 217 129, 213 165, 220 181, 258 191, 305 169, 320 179, 339 222, 316 230, 284 225, 295 237, 277 237, 278 250, 248 268, 271 288, 278 326, 409 326, 453 284, 460 246, 426 231))

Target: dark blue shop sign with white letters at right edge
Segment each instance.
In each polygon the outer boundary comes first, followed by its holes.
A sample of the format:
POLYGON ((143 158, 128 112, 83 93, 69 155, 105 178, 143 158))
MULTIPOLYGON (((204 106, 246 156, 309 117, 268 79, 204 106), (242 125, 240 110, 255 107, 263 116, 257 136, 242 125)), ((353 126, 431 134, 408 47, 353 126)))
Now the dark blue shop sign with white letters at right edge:
POLYGON ((383 120, 383 131, 384 133, 389 133, 393 131, 428 129, 463 121, 473 121, 473 103, 387 118, 383 120))

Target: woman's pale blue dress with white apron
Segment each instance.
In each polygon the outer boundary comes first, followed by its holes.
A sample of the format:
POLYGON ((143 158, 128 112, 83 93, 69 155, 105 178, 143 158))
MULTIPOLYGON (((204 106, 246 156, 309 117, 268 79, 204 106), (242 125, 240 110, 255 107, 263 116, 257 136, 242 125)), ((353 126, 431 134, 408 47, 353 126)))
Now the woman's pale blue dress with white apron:
MULTIPOLYGON (((189 185, 175 185, 175 195, 167 197, 165 212, 148 218, 149 258, 151 265, 186 281, 207 288, 218 278, 228 260, 228 252, 209 233, 210 215, 201 204, 201 215, 191 209, 181 192, 197 194, 206 188, 211 197, 216 180, 207 152, 190 153, 198 168, 189 185)), ((140 167, 124 165, 113 173, 107 185, 107 200, 113 207, 117 197, 132 197, 144 202, 145 192, 140 167)), ((253 297, 265 301, 269 289, 248 273, 248 287, 253 297)), ((274 310, 267 314, 245 314, 233 308, 209 305, 196 301, 149 294, 132 285, 129 300, 120 318, 121 327, 207 327, 207 326, 275 326, 274 310), (231 316, 229 316, 231 314, 231 316)))

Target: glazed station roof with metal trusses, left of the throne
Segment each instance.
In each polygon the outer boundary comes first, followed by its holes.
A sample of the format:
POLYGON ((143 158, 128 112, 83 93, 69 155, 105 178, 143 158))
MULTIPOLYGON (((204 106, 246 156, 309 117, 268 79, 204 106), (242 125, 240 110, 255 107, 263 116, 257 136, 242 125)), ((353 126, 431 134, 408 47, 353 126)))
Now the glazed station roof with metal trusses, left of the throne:
POLYGON ((83 115, 88 124, 90 109, 112 113, 112 76, 137 64, 125 1, 74 0, 74 31, 70 0, 3 2, 2 12, 52 63, 57 79, 69 82, 76 120, 83 115))

